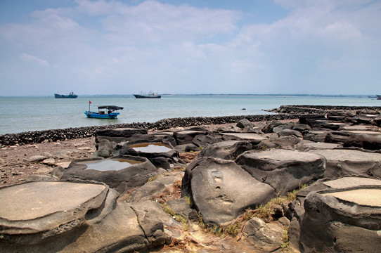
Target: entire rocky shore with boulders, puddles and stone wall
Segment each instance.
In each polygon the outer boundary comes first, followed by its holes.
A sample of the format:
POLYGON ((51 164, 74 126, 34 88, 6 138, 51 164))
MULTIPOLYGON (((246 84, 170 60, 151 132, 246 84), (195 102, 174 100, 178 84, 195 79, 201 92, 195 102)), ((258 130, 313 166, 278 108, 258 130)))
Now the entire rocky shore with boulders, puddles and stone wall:
POLYGON ((288 105, 7 138, 0 251, 377 252, 380 110, 288 105))

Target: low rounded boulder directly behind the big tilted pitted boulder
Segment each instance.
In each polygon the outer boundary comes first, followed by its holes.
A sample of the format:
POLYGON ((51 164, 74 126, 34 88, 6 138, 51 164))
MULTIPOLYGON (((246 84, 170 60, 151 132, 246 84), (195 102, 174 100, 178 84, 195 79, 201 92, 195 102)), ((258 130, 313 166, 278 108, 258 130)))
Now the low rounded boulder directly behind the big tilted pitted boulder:
POLYGON ((207 146, 201 151, 200 157, 215 157, 224 160, 235 160, 238 155, 252 149, 248 141, 221 141, 207 146))

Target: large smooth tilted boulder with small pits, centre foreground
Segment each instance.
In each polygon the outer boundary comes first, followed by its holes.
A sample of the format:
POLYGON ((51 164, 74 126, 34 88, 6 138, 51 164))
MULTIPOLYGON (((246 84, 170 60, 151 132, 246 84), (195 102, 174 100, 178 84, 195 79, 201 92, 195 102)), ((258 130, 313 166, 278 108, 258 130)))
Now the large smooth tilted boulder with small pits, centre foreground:
POLYGON ((234 162, 207 157, 188 165, 181 195, 191 197, 206 223, 224 225, 247 208, 268 202, 276 193, 234 162))

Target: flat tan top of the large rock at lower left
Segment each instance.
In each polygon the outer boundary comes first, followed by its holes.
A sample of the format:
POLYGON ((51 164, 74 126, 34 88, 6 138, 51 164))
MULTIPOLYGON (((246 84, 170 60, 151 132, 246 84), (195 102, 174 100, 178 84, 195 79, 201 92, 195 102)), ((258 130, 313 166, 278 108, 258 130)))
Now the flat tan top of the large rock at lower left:
POLYGON ((107 190, 108 186, 103 184, 52 181, 11 186, 0 190, 0 218, 8 221, 27 221, 62 212, 61 216, 70 219, 72 211, 79 206, 88 205, 87 209, 94 208, 96 205, 92 205, 95 203, 91 200, 97 197, 101 197, 102 203, 107 190))

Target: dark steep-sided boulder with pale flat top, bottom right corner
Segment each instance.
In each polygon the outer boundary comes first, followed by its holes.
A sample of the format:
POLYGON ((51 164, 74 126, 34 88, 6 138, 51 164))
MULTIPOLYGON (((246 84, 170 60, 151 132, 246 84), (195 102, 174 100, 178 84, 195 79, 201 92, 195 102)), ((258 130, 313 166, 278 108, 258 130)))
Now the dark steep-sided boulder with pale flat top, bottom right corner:
POLYGON ((302 251, 379 252, 380 199, 380 187, 309 193, 299 239, 302 251))

